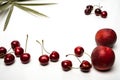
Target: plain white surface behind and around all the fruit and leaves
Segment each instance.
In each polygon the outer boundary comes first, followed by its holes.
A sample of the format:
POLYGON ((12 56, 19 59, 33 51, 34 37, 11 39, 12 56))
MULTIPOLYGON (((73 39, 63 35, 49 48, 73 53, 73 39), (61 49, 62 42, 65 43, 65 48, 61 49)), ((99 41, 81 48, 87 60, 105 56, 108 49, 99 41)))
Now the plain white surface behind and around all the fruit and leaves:
MULTIPOLYGON (((120 80, 120 1, 119 0, 41 0, 40 2, 55 2, 57 5, 34 7, 45 13, 49 18, 32 16, 18 8, 14 8, 8 28, 2 31, 4 20, 0 21, 0 46, 10 48, 12 40, 19 40, 21 46, 25 46, 26 34, 29 35, 27 52, 31 54, 31 62, 22 64, 19 58, 11 66, 6 66, 0 59, 0 80, 120 80), (108 17, 103 19, 94 14, 86 16, 86 5, 103 6, 102 10, 108 12, 108 17), (89 73, 72 69, 64 72, 61 69, 61 61, 71 59, 74 66, 79 62, 74 56, 65 57, 73 53, 76 46, 83 46, 85 52, 91 54, 95 44, 95 33, 100 28, 112 28, 117 33, 115 44, 116 59, 111 71, 99 72, 93 67, 89 73), (50 62, 48 66, 41 66, 38 58, 41 49, 36 40, 45 41, 48 51, 56 50, 60 53, 57 63, 50 62)), ((33 7, 32 7, 33 8, 33 7)), ((82 59, 89 59, 83 56, 82 59)))

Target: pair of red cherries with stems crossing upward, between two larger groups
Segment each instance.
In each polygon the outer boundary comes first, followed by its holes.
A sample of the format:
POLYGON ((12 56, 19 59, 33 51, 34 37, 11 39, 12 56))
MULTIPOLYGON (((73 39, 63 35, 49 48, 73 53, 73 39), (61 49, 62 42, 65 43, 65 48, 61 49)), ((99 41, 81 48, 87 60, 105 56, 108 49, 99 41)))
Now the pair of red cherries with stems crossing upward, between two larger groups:
POLYGON ((42 43, 40 43, 40 41, 36 40, 37 43, 40 44, 41 46, 41 50, 42 50, 42 55, 39 57, 39 62, 42 66, 46 66, 49 64, 49 60, 52 62, 57 62, 59 60, 59 53, 57 51, 52 51, 51 53, 49 53, 45 47, 44 47, 44 41, 42 40, 42 43), (47 54, 43 54, 43 51, 45 51, 47 54))

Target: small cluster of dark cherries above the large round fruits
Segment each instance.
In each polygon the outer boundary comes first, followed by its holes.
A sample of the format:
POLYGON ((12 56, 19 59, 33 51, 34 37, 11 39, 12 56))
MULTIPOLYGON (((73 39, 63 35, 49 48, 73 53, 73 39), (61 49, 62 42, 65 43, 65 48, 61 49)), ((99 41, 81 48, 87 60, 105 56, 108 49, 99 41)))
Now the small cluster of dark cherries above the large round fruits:
MULTIPOLYGON (((107 13, 107 11, 102 11, 101 8, 102 8, 102 6, 99 6, 98 8, 96 8, 94 10, 94 13, 96 16, 101 16, 102 18, 106 18, 108 13, 107 13)), ((84 12, 86 15, 90 15, 92 11, 93 11, 93 6, 87 5, 84 12)))

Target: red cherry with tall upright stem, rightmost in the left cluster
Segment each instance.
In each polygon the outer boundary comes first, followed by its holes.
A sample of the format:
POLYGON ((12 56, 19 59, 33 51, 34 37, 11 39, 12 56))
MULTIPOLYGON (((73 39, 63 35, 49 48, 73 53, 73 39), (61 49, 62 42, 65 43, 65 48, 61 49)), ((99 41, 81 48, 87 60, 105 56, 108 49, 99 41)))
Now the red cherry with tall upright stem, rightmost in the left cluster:
POLYGON ((27 35, 27 38, 26 38, 25 53, 20 55, 20 60, 23 64, 29 63, 30 62, 30 57, 31 57, 29 53, 26 53, 27 42, 28 42, 28 35, 27 35))

